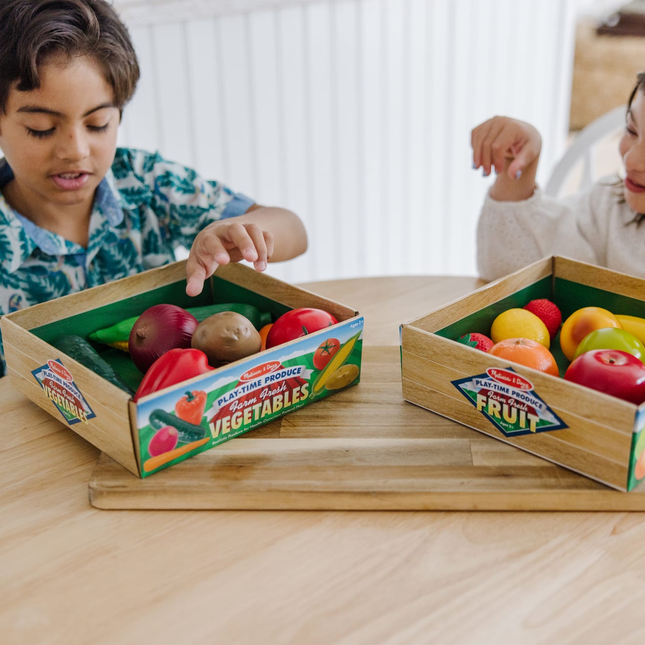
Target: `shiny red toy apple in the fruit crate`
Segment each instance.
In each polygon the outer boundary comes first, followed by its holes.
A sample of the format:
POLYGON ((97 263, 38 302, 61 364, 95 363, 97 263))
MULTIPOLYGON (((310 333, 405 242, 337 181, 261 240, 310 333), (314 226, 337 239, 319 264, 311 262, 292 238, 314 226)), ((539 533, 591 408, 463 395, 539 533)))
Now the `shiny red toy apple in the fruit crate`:
POLYGON ((645 401, 645 365, 622 350, 584 352, 571 362, 564 378, 636 405, 645 401))

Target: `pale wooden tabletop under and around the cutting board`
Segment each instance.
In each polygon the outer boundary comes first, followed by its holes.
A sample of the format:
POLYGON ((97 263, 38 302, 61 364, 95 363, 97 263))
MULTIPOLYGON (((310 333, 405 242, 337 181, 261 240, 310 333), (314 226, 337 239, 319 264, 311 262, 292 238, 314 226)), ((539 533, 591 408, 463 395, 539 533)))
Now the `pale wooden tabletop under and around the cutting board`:
MULTIPOLYGON (((304 285, 366 344, 470 277, 304 285)), ((640 513, 102 511, 99 452, 0 379, 3 643, 636 642, 640 513)))

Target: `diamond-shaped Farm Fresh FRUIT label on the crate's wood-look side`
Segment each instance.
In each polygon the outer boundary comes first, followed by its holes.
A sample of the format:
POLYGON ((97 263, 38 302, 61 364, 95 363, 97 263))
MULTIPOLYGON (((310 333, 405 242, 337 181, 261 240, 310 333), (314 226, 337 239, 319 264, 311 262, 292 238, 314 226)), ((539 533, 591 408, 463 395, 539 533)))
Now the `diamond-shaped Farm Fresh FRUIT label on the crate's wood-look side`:
POLYGON ((452 384, 505 437, 561 430, 568 426, 512 368, 488 368, 452 384))

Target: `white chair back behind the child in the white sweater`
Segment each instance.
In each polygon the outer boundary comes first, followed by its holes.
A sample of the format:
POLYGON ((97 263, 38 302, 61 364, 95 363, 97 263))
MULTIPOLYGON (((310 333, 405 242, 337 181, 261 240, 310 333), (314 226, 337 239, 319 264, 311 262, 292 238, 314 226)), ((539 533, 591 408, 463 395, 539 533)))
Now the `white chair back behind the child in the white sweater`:
POLYGON ((625 108, 619 106, 592 121, 575 136, 573 142, 555 164, 544 186, 544 192, 553 197, 581 190, 589 186, 598 175, 619 172, 621 168, 618 153, 617 134, 625 126, 625 108), (605 144, 604 148, 600 146, 605 144), (613 146, 609 148, 610 144, 613 146), (597 153, 602 152, 602 171, 596 172, 597 153), (581 166, 581 168, 580 168, 581 166), (579 174, 574 175, 574 171, 579 174), (573 185, 572 185, 573 182, 573 185))

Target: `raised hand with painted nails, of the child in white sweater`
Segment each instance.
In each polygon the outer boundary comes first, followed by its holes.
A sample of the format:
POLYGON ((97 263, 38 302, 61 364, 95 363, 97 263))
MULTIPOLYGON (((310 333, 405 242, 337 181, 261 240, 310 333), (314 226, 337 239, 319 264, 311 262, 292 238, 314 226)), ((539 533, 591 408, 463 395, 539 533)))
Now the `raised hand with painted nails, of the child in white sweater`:
POLYGON ((497 116, 474 128, 470 143, 473 168, 483 168, 484 177, 495 168, 498 176, 506 172, 510 179, 519 179, 533 162, 533 168, 537 165, 542 137, 530 123, 497 116))

